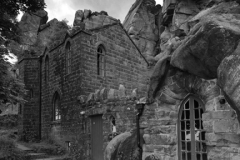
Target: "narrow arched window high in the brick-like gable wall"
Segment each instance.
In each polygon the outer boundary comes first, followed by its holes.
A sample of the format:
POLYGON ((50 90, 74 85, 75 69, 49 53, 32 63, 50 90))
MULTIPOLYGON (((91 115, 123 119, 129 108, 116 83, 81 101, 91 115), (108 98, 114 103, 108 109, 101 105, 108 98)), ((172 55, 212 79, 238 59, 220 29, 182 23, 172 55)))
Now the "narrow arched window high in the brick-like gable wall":
POLYGON ((97 49, 97 74, 100 76, 105 75, 105 50, 102 45, 98 46, 97 49))

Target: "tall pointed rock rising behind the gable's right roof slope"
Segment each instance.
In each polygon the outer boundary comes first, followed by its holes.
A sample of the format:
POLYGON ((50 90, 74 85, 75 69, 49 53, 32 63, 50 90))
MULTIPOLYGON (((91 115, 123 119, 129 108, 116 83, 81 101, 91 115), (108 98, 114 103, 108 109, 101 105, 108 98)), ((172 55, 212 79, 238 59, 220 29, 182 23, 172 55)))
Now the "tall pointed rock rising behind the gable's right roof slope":
POLYGON ((155 4, 154 0, 136 0, 123 22, 124 28, 147 59, 159 52, 160 26, 157 24, 161 20, 161 6, 155 4))

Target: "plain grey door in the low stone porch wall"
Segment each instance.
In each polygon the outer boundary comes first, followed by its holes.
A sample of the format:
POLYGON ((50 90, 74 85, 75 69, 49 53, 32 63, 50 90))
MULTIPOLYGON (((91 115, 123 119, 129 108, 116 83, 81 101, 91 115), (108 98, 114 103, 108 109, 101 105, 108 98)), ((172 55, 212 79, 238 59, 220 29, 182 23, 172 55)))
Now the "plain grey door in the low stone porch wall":
POLYGON ((102 115, 91 117, 92 160, 103 160, 102 115))

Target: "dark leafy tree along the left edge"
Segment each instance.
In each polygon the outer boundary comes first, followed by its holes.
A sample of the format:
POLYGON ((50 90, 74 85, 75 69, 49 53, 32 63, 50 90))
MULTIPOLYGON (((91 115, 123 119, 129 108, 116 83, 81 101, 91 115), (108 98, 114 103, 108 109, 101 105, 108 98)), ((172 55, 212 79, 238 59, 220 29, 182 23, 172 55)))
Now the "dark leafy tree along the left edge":
MULTIPOLYGON (((35 12, 45 8, 44 0, 1 0, 0 5, 0 104, 19 102, 24 93, 23 83, 13 72, 14 65, 8 61, 11 57, 9 44, 19 41, 19 11, 35 12)), ((16 56, 19 53, 14 52, 16 56)))

